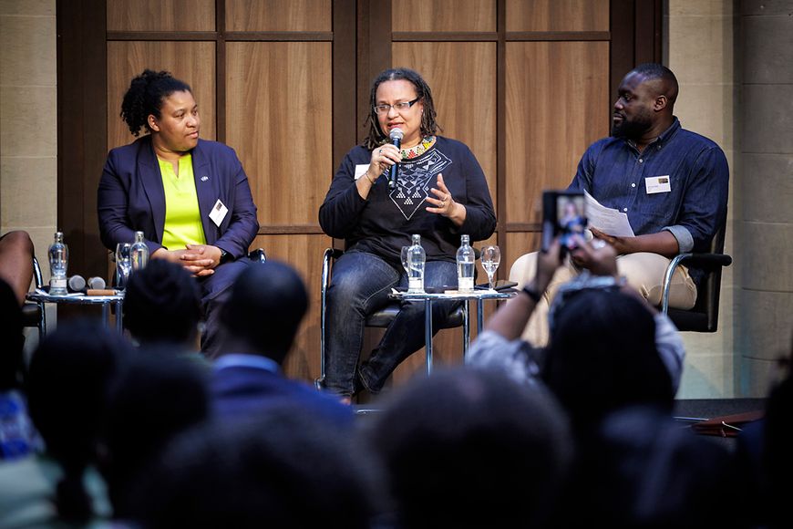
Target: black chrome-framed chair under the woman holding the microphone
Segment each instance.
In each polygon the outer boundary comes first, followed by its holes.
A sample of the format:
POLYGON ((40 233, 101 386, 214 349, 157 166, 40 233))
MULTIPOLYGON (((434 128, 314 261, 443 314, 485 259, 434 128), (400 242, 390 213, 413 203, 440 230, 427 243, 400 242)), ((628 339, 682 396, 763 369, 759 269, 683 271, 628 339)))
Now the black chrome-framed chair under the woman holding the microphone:
MULTIPOLYGON (((325 345, 325 329, 326 329, 326 321, 327 321, 327 289, 330 286, 331 280, 331 271, 333 267, 333 262, 341 257, 344 254, 342 250, 336 250, 334 248, 327 248, 324 251, 323 262, 322 262, 322 289, 321 289, 321 305, 320 305, 320 337, 319 337, 319 348, 320 348, 320 378, 314 380, 314 385, 317 389, 322 389, 324 386, 324 369, 325 369, 325 358, 327 354, 327 349, 325 345)), ((394 303, 385 306, 378 310, 376 313, 368 316, 366 318, 366 327, 380 327, 385 328, 391 325, 391 322, 394 321, 394 318, 397 317, 399 314, 399 303, 395 301, 394 303)), ((465 341, 466 333, 468 332, 468 328, 465 325, 466 323, 466 306, 465 304, 461 304, 458 308, 449 316, 448 321, 445 326, 439 328, 454 328, 454 327, 463 327, 463 341, 465 341)), ((427 355, 427 374, 430 373, 432 370, 432 357, 427 355)))

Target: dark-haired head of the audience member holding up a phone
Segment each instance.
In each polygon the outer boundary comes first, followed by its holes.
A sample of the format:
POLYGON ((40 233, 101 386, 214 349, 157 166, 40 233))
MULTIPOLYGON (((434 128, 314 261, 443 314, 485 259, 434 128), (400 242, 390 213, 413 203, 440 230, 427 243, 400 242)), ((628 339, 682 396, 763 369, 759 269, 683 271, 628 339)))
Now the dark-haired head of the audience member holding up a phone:
POLYGON ((580 432, 625 406, 672 410, 654 317, 642 301, 615 290, 584 289, 554 307, 543 378, 580 432))

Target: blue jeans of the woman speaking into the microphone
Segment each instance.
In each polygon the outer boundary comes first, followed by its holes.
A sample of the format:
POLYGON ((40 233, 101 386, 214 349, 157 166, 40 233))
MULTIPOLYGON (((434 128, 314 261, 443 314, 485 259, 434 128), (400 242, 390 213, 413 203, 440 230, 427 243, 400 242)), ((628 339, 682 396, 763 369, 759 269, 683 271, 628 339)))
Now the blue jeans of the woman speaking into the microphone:
MULTIPOLYGON (((427 262, 425 286, 455 287, 457 265, 447 261, 427 262)), ((407 287, 407 275, 376 256, 355 250, 336 261, 327 296, 327 357, 325 387, 340 395, 352 395, 355 367, 364 341, 366 316, 394 302, 388 295, 392 287, 407 287)), ((438 332, 446 325, 459 302, 432 305, 432 328, 438 332)), ((377 392, 386 379, 407 357, 424 347, 424 302, 403 302, 399 315, 371 356, 358 368, 357 376, 366 389, 377 392)))

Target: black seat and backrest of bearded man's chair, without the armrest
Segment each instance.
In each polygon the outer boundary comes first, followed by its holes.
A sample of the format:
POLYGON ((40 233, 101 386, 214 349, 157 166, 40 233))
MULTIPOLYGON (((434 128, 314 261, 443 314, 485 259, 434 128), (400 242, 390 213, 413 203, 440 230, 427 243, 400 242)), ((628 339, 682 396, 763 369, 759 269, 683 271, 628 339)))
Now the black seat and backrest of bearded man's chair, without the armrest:
MULTIPOLYGON (((725 227, 714 235, 710 254, 724 254, 725 227)), ((697 267, 705 275, 697 285, 696 303, 690 310, 670 308, 668 316, 681 331, 713 333, 718 329, 718 303, 721 293, 722 265, 697 267)))

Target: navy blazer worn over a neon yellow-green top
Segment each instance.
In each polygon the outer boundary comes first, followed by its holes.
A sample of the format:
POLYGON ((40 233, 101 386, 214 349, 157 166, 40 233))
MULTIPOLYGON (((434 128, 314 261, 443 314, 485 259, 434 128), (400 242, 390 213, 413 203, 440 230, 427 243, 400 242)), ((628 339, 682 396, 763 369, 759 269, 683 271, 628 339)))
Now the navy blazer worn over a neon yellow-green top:
MULTIPOLYGON (((236 259, 247 255, 259 222, 242 163, 231 147, 217 141, 199 140, 191 154, 207 244, 236 259), (218 200, 229 208, 220 226, 209 216, 218 200)), ((99 181, 97 207, 99 235, 111 251, 118 243, 133 242, 137 231, 144 233, 149 254, 162 247, 165 189, 149 135, 110 150, 99 181)))

